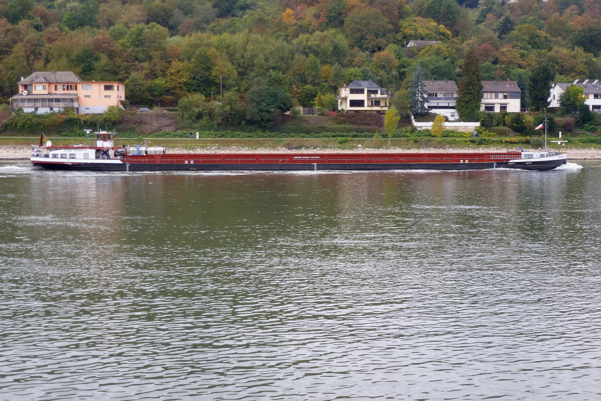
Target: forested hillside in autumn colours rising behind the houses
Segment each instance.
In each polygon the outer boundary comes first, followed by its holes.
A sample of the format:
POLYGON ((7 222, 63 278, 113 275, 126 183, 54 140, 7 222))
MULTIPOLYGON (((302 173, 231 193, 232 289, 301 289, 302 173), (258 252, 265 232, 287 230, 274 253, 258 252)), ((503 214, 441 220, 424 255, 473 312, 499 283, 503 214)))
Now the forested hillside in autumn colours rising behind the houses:
POLYGON ((0 0, 5 100, 34 70, 73 71, 125 82, 131 104, 185 99, 190 118, 230 125, 318 93, 332 103, 352 79, 402 110, 418 63, 458 79, 468 47, 482 79, 529 82, 543 65, 555 81, 600 78, 601 0, 0 0), (403 49, 419 39, 441 43, 403 49))

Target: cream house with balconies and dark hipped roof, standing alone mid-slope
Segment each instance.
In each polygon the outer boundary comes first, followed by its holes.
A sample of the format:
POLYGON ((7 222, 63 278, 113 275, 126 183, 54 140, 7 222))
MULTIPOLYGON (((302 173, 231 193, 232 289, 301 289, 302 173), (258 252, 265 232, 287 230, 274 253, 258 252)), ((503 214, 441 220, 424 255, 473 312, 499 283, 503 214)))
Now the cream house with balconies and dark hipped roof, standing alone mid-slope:
POLYGON ((382 114, 388 110, 390 92, 375 82, 353 80, 338 90, 338 109, 345 112, 382 114))

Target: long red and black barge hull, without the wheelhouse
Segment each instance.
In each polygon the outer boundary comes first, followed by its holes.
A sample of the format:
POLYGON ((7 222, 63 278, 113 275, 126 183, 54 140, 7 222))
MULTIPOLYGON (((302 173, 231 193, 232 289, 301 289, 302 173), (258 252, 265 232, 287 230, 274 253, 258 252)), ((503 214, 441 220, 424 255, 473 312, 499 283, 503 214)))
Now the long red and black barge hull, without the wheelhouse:
POLYGON ((503 153, 219 153, 126 155, 102 160, 32 158, 34 166, 90 171, 288 171, 288 170, 552 170, 563 158, 522 159, 503 153))

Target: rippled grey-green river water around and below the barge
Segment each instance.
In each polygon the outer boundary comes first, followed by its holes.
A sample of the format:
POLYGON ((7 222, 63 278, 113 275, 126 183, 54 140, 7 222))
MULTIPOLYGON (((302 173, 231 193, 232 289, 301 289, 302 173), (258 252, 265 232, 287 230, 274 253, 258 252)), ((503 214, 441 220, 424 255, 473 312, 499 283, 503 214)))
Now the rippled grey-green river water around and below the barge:
POLYGON ((599 400, 601 161, 0 164, 0 400, 599 400))

